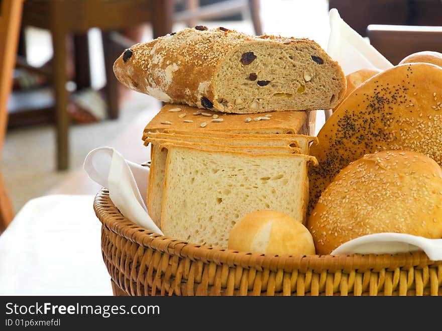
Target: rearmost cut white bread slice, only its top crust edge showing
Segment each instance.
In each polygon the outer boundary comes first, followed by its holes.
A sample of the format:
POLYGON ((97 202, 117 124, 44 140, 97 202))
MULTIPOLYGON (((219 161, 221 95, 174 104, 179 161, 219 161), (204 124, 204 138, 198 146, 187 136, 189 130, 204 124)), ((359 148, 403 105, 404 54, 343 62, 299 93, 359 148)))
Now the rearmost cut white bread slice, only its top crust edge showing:
MULTIPOLYGON (((194 137, 195 139, 215 139, 216 141, 236 141, 237 139, 245 139, 245 140, 254 140, 252 145, 259 146, 260 144, 267 145, 267 142, 271 142, 271 145, 275 145, 282 143, 286 144, 285 141, 290 142, 291 147, 299 147, 301 149, 301 154, 310 155, 310 146, 312 144, 317 144, 318 140, 316 137, 313 136, 306 136, 306 135, 292 135, 292 134, 281 134, 281 135, 260 135, 260 134, 227 134, 223 132, 217 132, 217 131, 205 131, 205 132, 199 132, 199 131, 180 131, 180 130, 174 130, 174 129, 166 129, 163 131, 163 133, 145 133, 143 135, 143 138, 146 139, 147 137, 159 137, 155 135, 176 135, 177 139, 180 139, 181 137, 194 137), (180 138, 178 138, 180 137, 180 138), (260 143, 262 142, 262 143, 260 143), (259 145, 258 145, 259 144, 259 145), (296 144, 297 146, 294 146, 292 144, 296 144)), ((145 144, 147 144, 145 142, 145 144)), ((247 144, 248 145, 248 144, 247 144)))

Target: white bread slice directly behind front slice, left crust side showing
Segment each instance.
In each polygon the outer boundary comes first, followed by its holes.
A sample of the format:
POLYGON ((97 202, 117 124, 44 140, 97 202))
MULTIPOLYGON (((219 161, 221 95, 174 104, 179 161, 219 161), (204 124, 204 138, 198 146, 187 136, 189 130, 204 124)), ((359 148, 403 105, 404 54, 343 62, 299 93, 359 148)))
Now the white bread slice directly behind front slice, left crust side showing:
MULTIPOLYGON (((204 143, 204 140, 194 141, 192 140, 186 142, 183 140, 173 140, 173 139, 154 139, 148 138, 148 140, 152 143, 151 146, 151 166, 149 172, 149 183, 147 188, 147 210, 149 211, 150 217, 153 219, 155 224, 160 227, 161 226, 161 204, 163 201, 163 189, 164 189, 164 178, 165 178, 165 167, 166 167, 166 159, 167 159, 167 149, 160 148, 161 144, 169 143, 176 144, 180 146, 190 146, 190 147, 201 147, 206 149, 213 150, 231 150, 231 151, 243 151, 252 154, 265 154, 265 153, 300 153, 301 150, 296 147, 290 147, 288 145, 285 146, 271 146, 272 142, 269 142, 267 146, 257 145, 241 145, 241 143, 245 143, 246 141, 233 141, 229 144, 228 141, 219 141, 219 143, 224 144, 212 144, 212 143, 204 143), (234 145, 236 144, 236 145, 234 145)), ((254 143, 253 140, 250 140, 249 143, 254 143)), ((259 141, 262 143, 262 141, 259 141)))

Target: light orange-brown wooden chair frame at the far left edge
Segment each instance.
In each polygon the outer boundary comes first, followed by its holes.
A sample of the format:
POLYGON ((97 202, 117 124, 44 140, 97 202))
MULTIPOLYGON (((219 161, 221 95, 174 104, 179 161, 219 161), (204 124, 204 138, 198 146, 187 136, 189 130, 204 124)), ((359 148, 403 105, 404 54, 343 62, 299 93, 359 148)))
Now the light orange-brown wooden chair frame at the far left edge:
MULTIPOLYGON (((8 122, 7 103, 12 88, 23 0, 0 1, 0 160, 8 122)), ((0 173, 0 234, 11 223, 14 211, 0 173)))

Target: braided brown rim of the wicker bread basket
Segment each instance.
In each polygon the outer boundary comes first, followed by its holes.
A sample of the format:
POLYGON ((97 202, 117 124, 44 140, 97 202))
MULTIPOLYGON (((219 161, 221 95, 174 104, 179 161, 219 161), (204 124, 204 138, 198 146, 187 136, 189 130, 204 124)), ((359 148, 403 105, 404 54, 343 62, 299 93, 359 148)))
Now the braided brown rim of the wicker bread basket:
POLYGON ((156 234, 151 230, 142 228, 123 216, 114 205, 107 189, 102 188, 94 198, 93 207, 95 214, 102 226, 118 236, 151 248, 155 251, 189 258, 193 261, 204 263, 227 264, 232 267, 255 268, 271 271, 283 269, 284 271, 299 270, 305 272, 335 270, 364 272, 396 268, 413 268, 432 265, 442 265, 442 261, 431 261, 423 252, 400 254, 352 254, 352 255, 299 255, 277 256, 261 253, 246 253, 187 243, 182 240, 156 234))

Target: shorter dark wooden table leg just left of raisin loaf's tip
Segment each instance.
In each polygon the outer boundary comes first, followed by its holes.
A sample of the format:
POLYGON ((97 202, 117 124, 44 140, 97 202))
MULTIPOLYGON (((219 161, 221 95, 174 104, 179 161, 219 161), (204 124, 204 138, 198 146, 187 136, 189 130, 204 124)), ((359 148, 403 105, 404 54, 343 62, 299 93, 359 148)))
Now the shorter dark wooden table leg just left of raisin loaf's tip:
POLYGON ((123 49, 120 49, 111 39, 111 32, 103 31, 104 67, 106 70, 106 98, 109 119, 118 119, 119 116, 119 82, 115 77, 113 66, 123 49))

